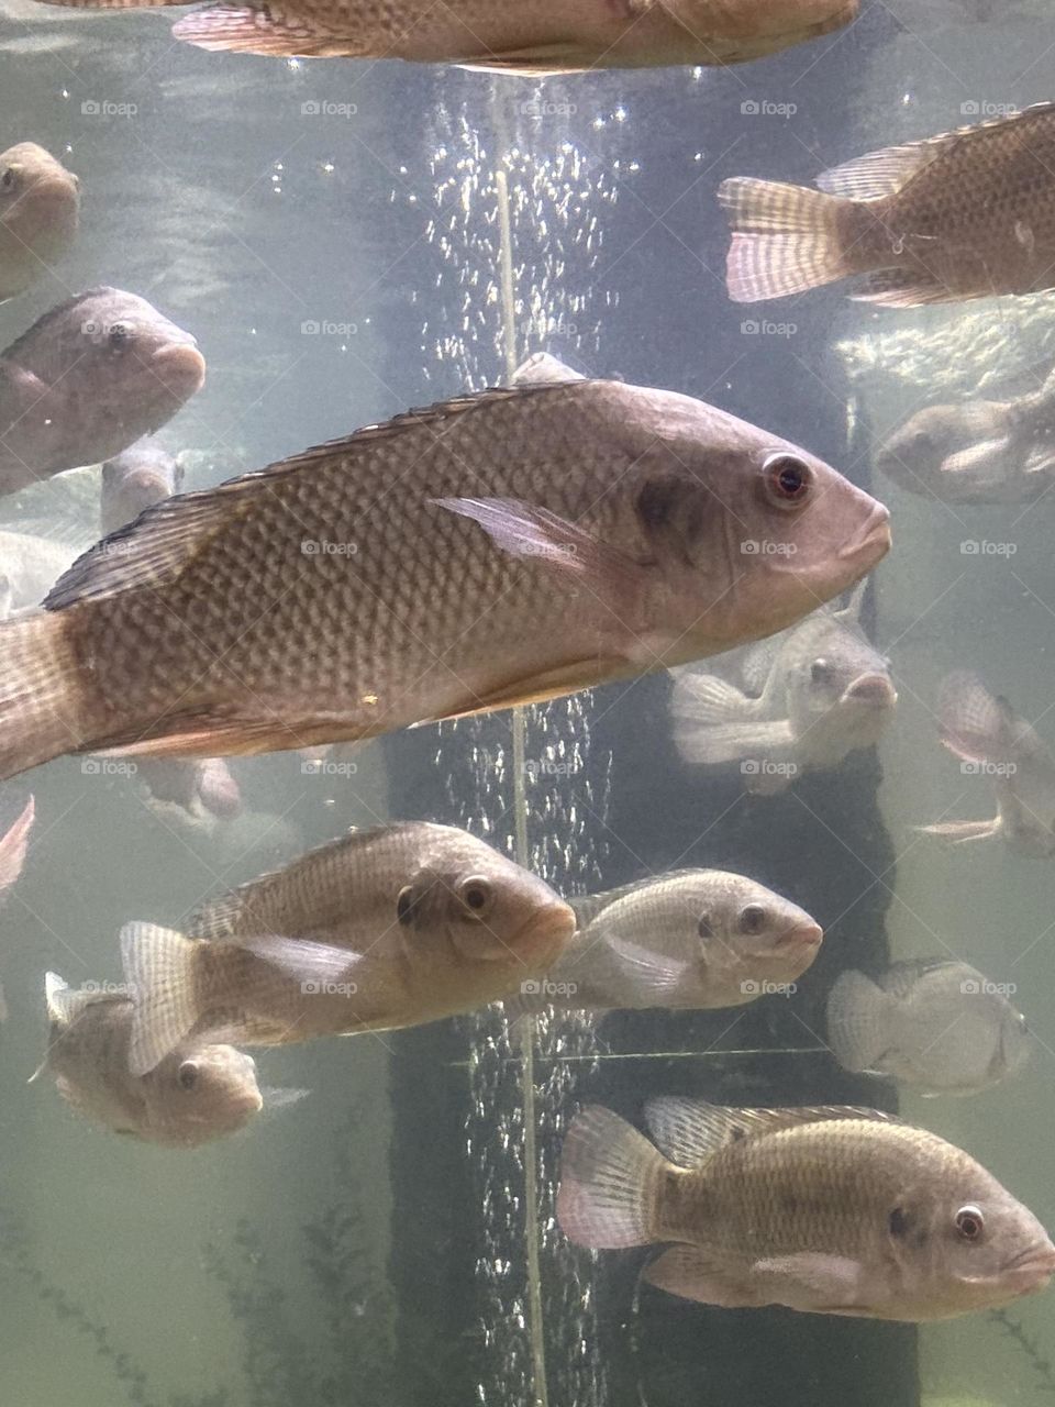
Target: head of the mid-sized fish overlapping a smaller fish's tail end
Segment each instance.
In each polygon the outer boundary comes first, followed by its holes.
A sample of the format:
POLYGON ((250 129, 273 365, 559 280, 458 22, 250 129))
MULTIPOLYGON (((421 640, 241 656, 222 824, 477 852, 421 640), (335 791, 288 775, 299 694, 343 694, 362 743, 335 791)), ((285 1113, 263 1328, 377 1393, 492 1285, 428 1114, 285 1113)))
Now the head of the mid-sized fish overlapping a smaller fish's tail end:
POLYGON ((397 900, 408 951, 440 941, 457 962, 546 964, 575 931, 575 915, 536 875, 488 847, 419 871, 397 900))

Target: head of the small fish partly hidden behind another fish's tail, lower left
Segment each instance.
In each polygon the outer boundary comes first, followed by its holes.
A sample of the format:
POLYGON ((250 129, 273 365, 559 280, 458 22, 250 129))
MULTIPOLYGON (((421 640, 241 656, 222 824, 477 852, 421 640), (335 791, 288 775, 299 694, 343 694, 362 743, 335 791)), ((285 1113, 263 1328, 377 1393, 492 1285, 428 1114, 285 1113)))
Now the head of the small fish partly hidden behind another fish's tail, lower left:
POLYGON ((245 1127, 263 1109, 256 1062, 234 1045, 181 1047, 142 1076, 142 1137, 183 1148, 245 1127))

